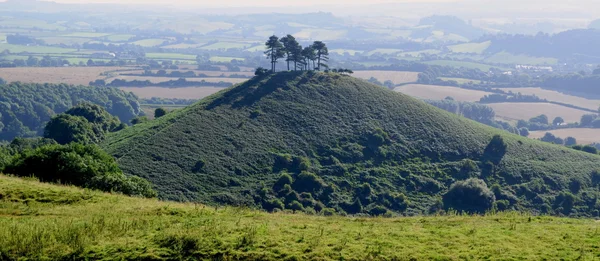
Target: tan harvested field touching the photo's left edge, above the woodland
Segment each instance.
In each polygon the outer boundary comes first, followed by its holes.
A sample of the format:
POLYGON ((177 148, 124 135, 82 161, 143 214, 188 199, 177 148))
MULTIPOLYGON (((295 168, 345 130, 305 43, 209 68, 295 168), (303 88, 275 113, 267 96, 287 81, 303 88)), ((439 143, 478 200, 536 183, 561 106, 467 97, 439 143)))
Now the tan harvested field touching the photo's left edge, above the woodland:
MULTIPOLYGON (((68 83, 88 85, 97 79, 104 79, 101 74, 128 70, 128 67, 20 67, 0 68, 0 78, 7 82, 27 83, 68 83)), ((135 68, 133 68, 135 69, 135 68)))

